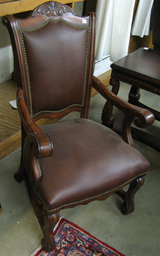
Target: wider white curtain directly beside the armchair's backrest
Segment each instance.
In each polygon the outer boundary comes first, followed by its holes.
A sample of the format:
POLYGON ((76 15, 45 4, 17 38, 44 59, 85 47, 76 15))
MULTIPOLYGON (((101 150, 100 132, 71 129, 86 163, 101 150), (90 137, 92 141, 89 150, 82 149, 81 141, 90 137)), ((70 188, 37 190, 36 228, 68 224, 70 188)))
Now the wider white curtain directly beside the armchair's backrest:
POLYGON ((128 53, 135 0, 98 0, 95 57, 115 62, 128 53))

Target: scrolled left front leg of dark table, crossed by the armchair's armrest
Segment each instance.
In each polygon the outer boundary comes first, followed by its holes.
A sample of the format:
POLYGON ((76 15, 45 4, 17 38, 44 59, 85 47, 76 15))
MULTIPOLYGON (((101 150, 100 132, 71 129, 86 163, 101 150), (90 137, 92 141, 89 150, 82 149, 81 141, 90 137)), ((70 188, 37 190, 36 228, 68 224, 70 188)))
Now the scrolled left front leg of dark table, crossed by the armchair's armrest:
MULTIPOLYGON (((110 78, 109 84, 112 86, 112 92, 117 95, 120 88, 120 81, 110 78)), ((107 101, 102 111, 102 124, 111 127, 115 122, 115 116, 112 114, 113 105, 107 101)))

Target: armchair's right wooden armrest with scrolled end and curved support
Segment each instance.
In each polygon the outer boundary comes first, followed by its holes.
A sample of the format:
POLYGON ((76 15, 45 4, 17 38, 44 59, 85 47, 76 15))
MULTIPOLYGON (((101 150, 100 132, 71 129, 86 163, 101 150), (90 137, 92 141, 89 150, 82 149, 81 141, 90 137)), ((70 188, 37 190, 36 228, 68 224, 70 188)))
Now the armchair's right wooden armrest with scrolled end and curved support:
POLYGON ((132 120, 139 128, 145 128, 154 123, 154 115, 150 110, 134 106, 112 93, 97 77, 93 77, 92 85, 107 101, 125 114, 123 121, 123 140, 129 145, 134 145, 130 125, 132 120))

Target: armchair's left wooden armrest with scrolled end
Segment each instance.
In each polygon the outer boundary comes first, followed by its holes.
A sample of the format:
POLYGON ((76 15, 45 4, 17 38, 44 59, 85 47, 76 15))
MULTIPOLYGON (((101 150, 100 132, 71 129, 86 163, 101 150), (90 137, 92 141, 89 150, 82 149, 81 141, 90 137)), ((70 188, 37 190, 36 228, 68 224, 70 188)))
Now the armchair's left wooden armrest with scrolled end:
POLYGON ((50 137, 44 133, 32 120, 20 87, 17 89, 17 108, 26 133, 35 146, 36 157, 48 157, 53 154, 53 144, 50 137))

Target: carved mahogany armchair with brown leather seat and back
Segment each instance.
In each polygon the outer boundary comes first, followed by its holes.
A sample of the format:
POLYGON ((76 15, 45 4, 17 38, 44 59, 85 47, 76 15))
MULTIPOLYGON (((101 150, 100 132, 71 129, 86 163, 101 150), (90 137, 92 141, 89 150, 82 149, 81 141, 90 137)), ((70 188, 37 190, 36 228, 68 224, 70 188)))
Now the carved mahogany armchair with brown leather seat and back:
POLYGON ((77 16, 50 1, 28 18, 3 17, 17 72, 21 117, 21 163, 15 179, 25 179, 39 220, 45 251, 55 248, 53 229, 64 208, 105 200, 116 192, 124 214, 134 210, 134 194, 150 165, 130 144, 130 120, 145 127, 149 110, 114 95, 93 76, 96 14, 77 16), (87 119, 92 86, 126 114, 124 142, 109 128, 87 119), (38 127, 40 119, 80 118, 38 127), (128 135, 129 134, 129 135, 128 135), (130 184, 128 191, 123 187, 130 184))

